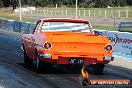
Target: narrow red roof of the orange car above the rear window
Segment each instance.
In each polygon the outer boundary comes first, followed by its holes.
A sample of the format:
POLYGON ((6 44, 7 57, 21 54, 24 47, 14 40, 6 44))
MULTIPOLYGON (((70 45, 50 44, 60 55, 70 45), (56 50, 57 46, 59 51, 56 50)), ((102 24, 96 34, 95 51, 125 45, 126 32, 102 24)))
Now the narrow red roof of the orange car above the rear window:
POLYGON ((46 18, 41 19, 43 22, 77 22, 77 23, 90 23, 85 19, 72 19, 72 18, 46 18))

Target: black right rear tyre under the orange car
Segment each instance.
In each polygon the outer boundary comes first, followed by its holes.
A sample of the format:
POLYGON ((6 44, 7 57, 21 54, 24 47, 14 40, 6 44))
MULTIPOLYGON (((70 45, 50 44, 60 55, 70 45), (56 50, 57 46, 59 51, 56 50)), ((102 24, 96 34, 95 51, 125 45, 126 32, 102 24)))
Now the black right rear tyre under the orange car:
POLYGON ((95 65, 91 65, 90 67, 92 68, 94 74, 102 74, 105 65, 104 64, 95 64, 95 65))

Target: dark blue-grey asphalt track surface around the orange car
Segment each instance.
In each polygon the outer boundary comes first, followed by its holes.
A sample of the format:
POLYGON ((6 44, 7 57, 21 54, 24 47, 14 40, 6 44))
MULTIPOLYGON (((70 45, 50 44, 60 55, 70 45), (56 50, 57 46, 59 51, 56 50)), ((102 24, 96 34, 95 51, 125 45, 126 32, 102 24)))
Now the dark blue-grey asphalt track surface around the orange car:
MULTIPOLYGON (((82 88, 80 67, 68 69, 63 66, 53 66, 38 74, 32 68, 25 68, 20 47, 21 34, 0 32, 0 85, 5 85, 5 88, 82 88)), ((132 70, 108 64, 103 74, 91 73, 89 77, 92 80, 132 80, 132 70)), ((131 86, 87 86, 85 88, 132 88, 131 86)))

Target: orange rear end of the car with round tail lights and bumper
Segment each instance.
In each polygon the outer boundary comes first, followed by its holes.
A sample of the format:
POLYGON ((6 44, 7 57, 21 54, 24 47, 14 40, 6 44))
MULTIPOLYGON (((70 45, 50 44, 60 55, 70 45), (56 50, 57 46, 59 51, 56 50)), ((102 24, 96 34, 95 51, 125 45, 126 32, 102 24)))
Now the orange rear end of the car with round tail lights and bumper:
POLYGON ((40 58, 57 64, 107 64, 113 60, 112 43, 104 36, 88 33, 45 32, 40 58))

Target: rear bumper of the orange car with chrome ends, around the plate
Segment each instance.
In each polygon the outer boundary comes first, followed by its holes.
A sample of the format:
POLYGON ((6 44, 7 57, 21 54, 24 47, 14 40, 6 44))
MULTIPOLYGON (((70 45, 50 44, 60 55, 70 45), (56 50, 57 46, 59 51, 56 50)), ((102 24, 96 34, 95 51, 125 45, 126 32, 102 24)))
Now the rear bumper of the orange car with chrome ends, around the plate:
POLYGON ((85 65, 102 63, 107 64, 110 61, 113 61, 114 57, 104 57, 104 56, 75 56, 75 55, 66 55, 66 56, 59 56, 59 55, 51 55, 51 54, 39 54, 41 61, 43 62, 55 62, 57 64, 71 64, 69 62, 69 58, 83 58, 85 65), (56 58, 54 58, 56 57, 56 58))

